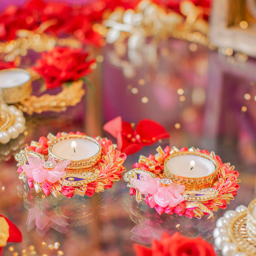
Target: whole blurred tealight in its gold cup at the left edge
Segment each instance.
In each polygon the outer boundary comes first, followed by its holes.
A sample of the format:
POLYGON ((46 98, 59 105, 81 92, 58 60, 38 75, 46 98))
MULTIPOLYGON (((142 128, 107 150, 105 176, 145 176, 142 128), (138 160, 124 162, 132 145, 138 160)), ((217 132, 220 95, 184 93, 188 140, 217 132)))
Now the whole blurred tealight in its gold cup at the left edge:
POLYGON ((31 75, 24 69, 0 71, 0 97, 7 104, 26 100, 32 93, 31 75))

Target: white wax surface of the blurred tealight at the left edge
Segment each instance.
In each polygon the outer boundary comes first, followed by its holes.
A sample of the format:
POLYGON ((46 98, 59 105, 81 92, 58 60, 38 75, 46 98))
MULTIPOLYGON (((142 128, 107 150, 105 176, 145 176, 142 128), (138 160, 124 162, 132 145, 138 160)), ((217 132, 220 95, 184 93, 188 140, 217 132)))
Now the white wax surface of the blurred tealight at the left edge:
POLYGON ((30 80, 30 74, 22 69, 7 69, 0 72, 0 88, 23 85, 30 80))

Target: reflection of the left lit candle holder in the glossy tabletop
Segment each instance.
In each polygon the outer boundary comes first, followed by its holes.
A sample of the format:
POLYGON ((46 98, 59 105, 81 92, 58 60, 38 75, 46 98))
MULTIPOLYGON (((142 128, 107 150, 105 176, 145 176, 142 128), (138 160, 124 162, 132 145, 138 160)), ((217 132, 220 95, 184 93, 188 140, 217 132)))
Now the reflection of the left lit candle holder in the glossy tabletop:
POLYGON ((27 231, 36 226, 40 236, 52 228, 60 233, 68 232, 68 226, 80 226, 90 223, 95 214, 102 214, 98 194, 82 199, 74 196, 71 200, 53 195, 46 197, 43 192, 30 190, 27 183, 19 183, 18 196, 28 210, 27 231))

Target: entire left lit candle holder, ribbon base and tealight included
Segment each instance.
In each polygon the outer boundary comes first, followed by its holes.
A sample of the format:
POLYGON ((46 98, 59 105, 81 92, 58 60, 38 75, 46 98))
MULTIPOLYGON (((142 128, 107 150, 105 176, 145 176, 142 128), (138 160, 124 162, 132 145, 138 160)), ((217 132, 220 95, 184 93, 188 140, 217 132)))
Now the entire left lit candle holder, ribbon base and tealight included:
POLYGON ((91 196, 121 178, 126 155, 116 147, 111 140, 80 132, 48 134, 15 156, 19 178, 47 196, 91 196))

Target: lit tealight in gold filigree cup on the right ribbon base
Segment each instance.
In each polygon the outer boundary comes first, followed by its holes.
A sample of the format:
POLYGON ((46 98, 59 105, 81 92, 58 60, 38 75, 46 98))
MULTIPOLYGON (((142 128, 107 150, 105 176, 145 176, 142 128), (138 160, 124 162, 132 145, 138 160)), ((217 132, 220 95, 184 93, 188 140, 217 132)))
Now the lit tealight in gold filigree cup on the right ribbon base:
POLYGON ((218 180, 218 161, 200 152, 173 150, 165 159, 164 166, 166 177, 189 189, 212 187, 218 180))

